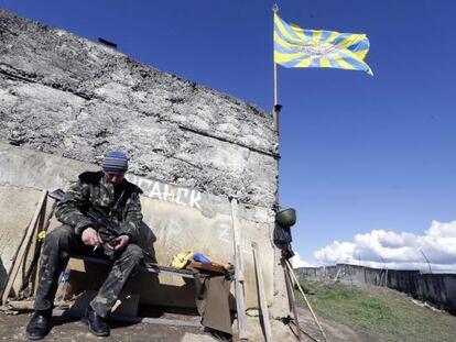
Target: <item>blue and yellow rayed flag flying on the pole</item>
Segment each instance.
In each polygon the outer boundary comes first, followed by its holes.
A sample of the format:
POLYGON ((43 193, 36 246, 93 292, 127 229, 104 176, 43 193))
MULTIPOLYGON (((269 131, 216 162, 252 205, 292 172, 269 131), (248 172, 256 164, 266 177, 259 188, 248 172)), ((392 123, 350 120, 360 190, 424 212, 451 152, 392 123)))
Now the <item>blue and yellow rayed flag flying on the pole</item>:
POLYGON ((366 34, 303 30, 274 13, 274 62, 287 68, 339 68, 373 75, 366 34))

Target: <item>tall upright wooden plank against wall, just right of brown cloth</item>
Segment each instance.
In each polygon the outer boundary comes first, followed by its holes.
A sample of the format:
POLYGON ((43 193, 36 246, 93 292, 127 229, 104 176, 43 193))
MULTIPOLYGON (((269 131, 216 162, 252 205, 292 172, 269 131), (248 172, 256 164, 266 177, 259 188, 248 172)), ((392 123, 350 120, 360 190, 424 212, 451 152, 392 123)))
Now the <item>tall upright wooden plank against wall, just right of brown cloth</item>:
POLYGON ((242 251, 240 247, 240 233, 238 221, 238 200, 230 198, 232 219, 232 240, 235 249, 235 285, 236 285, 236 309, 238 313, 239 340, 248 340, 246 322, 246 298, 242 251))

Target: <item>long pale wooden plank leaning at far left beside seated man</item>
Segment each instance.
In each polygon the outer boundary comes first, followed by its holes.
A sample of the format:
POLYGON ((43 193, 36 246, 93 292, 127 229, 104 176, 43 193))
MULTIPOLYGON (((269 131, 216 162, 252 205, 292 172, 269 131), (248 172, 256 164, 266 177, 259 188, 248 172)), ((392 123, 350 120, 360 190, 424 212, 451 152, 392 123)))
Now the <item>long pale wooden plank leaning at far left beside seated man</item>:
POLYGON ((30 222, 29 228, 26 229, 25 236, 24 236, 24 239, 21 243, 21 246, 19 247, 18 255, 14 258, 13 266, 11 268, 11 272, 10 272, 9 276, 8 276, 7 285, 4 286, 3 295, 2 295, 2 298, 1 298, 2 305, 6 305, 8 302, 8 297, 10 296, 10 291, 11 291, 11 288, 13 287, 13 285, 14 285, 14 280, 15 280, 15 277, 18 276, 19 268, 22 265, 25 252, 29 249, 30 242, 33 238, 33 233, 34 233, 36 223, 39 221, 40 214, 43 211, 42 210, 43 205, 46 201, 46 197, 47 197, 47 190, 43 190, 42 195, 41 195, 41 198, 39 200, 39 203, 36 206, 35 213, 33 214, 32 221, 30 222))

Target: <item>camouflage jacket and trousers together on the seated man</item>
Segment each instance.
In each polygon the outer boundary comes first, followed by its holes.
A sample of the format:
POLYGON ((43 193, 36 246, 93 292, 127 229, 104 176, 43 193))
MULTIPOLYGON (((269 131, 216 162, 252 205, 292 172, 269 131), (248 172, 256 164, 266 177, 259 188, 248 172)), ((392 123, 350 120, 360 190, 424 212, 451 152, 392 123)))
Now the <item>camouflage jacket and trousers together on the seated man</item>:
MULTIPOLYGON (((67 191, 65 198, 57 203, 55 216, 64 223, 47 234, 42 252, 40 284, 36 293, 35 310, 52 308, 58 285, 58 276, 68 262, 70 253, 97 254, 109 257, 113 266, 102 284, 98 295, 90 302, 91 308, 101 317, 106 317, 120 291, 127 283, 134 266, 142 257, 142 250, 134 243, 138 240, 142 221, 139 194, 141 189, 123 179, 121 184, 108 183, 104 174, 84 173, 67 191), (107 217, 119 224, 121 234, 130 235, 129 244, 122 250, 112 252, 98 249, 82 242, 84 229, 93 225, 84 214, 84 209, 97 206, 107 217)), ((104 242, 115 236, 102 229, 99 234, 104 242)))

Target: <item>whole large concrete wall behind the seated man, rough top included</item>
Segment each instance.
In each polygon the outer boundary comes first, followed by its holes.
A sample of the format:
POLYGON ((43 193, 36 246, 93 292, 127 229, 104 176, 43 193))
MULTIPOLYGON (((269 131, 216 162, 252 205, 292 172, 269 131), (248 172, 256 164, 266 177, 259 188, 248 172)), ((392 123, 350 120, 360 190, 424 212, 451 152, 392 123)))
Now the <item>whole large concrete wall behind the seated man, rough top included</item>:
POLYGON ((64 187, 97 169, 107 150, 123 150, 129 179, 144 189, 160 263, 189 247, 232 262, 228 196, 236 195, 248 306, 257 306, 252 241, 264 255, 269 302, 283 297, 270 238, 279 156, 269 113, 6 10, 0 32, 1 185, 64 187))

